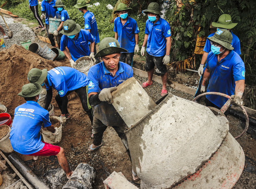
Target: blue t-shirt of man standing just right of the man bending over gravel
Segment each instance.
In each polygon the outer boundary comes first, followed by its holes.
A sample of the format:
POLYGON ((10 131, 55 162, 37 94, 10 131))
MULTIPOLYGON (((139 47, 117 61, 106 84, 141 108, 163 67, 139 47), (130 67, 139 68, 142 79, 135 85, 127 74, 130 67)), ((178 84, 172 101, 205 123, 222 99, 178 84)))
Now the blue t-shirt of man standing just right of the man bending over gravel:
MULTIPOLYGON (((97 22, 95 19, 95 16, 92 12, 89 10, 83 15, 85 19, 85 30, 91 30, 91 34, 94 37, 94 42, 95 43, 100 43, 100 36, 99 36, 99 31, 97 27, 97 22)), ((90 43, 88 43, 90 44, 90 43)))

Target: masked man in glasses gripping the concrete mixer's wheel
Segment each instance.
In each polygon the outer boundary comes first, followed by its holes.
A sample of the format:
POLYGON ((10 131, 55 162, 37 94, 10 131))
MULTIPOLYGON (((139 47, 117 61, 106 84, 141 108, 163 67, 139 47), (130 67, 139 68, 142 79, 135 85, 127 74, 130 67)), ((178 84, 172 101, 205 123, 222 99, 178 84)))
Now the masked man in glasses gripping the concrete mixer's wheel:
MULTIPOLYGON (((211 43, 211 52, 206 61, 201 93, 206 92, 205 85, 209 81, 207 92, 227 94, 231 96, 231 104, 242 106, 245 69, 243 60, 233 51, 232 34, 228 30, 221 29, 208 39, 211 43)), ((206 106, 220 109, 227 100, 222 96, 207 95, 206 106)))

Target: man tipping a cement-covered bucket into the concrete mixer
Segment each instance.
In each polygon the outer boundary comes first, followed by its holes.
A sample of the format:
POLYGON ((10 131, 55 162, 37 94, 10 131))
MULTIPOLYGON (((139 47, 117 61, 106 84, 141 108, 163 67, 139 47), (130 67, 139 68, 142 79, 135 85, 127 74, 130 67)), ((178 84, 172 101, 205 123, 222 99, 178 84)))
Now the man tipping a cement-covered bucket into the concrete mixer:
MULTIPOLYGON (((128 64, 119 61, 120 52, 127 52, 127 50, 120 48, 115 38, 106 37, 102 39, 99 48, 100 51, 95 56, 101 57, 103 61, 90 67, 88 72, 88 77, 91 80, 88 89, 89 103, 94 107, 94 138, 88 151, 94 152, 103 146, 103 132, 108 126, 111 126, 121 138, 130 156, 127 138, 124 134, 126 124, 111 104, 113 103, 111 92, 116 90, 116 86, 133 77, 133 69, 128 64)), ((138 180, 134 172, 133 180, 138 180)))

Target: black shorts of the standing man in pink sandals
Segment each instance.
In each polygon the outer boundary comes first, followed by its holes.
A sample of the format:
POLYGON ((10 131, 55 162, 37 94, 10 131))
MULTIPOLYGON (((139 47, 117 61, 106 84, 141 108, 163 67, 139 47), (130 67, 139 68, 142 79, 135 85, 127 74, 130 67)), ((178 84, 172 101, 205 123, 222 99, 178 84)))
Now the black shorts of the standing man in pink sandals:
POLYGON ((166 65, 163 64, 164 56, 155 57, 155 56, 151 56, 148 52, 146 52, 145 70, 149 71, 154 69, 154 67, 156 67, 156 74, 164 75, 167 72, 166 65))

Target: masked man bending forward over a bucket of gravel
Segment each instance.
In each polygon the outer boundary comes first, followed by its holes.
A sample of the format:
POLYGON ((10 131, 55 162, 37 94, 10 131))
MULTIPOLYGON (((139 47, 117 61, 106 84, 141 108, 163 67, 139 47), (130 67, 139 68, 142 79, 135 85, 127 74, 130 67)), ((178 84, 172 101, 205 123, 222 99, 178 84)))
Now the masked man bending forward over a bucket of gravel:
POLYGON ((73 20, 66 20, 63 23, 63 30, 61 34, 60 50, 64 52, 66 57, 69 59, 71 66, 74 68, 76 65, 75 61, 83 56, 89 56, 95 63, 94 58, 94 38, 89 31, 81 29, 79 24, 76 24, 73 20), (90 43, 91 53, 88 47, 88 42, 90 43), (71 57, 66 49, 68 48, 71 57))

